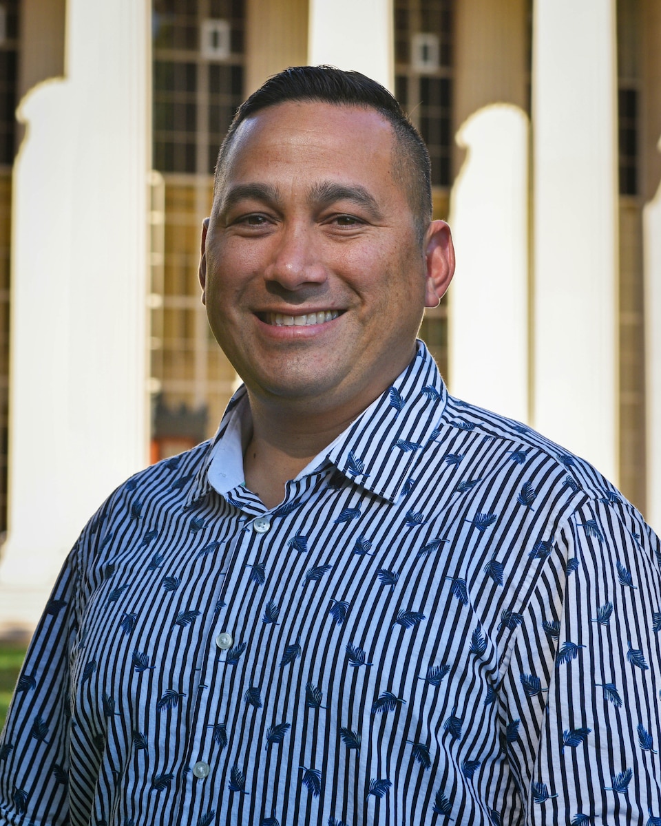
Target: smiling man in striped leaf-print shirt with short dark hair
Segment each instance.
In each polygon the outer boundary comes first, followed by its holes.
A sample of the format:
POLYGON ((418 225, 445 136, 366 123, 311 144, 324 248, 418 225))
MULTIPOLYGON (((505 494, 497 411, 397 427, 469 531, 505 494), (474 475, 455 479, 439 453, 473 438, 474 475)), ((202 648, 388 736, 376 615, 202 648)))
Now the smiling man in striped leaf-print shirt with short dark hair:
POLYGON ((448 395, 416 343, 454 270, 430 217, 368 78, 288 69, 240 108, 200 281, 245 387, 74 547, 0 823, 661 823, 659 539, 448 395))

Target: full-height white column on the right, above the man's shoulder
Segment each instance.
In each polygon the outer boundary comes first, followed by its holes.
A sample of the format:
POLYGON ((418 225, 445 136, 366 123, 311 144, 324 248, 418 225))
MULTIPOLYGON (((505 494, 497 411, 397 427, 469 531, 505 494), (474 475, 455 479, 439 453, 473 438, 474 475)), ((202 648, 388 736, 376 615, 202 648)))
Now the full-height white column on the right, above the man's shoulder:
POLYGON ((616 482, 615 0, 534 10, 534 423, 616 482))

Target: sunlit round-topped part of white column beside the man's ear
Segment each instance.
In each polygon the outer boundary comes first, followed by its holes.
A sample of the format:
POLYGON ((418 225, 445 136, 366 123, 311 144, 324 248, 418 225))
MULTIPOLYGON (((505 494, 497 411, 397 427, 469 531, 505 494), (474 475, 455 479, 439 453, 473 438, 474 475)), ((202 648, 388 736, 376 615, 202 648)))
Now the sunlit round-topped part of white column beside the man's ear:
POLYGON ((450 201, 449 387, 527 420, 528 119, 508 104, 485 107, 457 143, 467 154, 450 201))

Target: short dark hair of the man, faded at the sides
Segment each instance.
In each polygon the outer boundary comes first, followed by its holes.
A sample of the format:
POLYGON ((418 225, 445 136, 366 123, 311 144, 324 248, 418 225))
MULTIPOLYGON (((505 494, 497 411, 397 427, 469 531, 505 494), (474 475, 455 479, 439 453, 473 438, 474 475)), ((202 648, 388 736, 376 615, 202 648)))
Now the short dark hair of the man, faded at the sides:
POLYGON ((394 172, 407 192, 416 229, 422 237, 431 221, 432 209, 431 166, 425 141, 388 89, 360 72, 345 72, 335 66, 291 66, 274 74, 240 105, 218 153, 214 193, 221 187, 226 157, 240 124, 261 109, 288 101, 373 109, 390 123, 396 140, 394 172))

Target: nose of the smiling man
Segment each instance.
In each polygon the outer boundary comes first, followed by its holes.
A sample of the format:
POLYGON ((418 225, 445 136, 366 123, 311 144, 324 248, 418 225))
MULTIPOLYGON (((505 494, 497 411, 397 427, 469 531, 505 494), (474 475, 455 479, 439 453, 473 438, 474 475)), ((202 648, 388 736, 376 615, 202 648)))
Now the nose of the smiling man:
POLYGON ((287 290, 326 281, 326 266, 316 244, 314 227, 283 225, 274 239, 272 256, 264 270, 267 281, 287 290))

